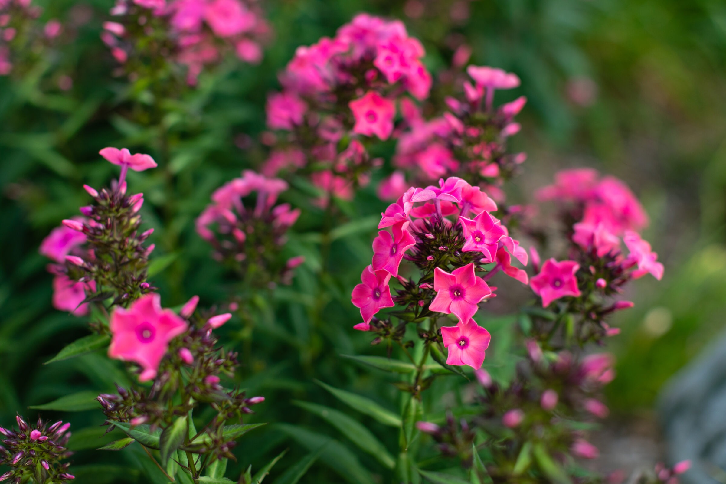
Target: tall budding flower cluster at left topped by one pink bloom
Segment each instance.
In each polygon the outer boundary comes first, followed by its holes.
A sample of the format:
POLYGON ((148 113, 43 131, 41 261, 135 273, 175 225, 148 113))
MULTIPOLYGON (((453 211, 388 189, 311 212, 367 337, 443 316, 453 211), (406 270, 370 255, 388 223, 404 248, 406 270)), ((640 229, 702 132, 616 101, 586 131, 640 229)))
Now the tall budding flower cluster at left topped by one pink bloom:
POLYGON ((104 148, 100 155, 121 166, 118 181, 100 192, 84 185, 94 203, 81 207, 83 217, 64 220, 40 247, 40 253, 54 261, 48 266, 55 276, 53 305, 78 316, 88 312, 84 303, 89 300, 113 298, 112 305, 126 304, 154 290, 146 282, 154 245, 144 245, 153 230, 139 234, 144 195, 126 195, 126 172, 154 168, 156 163, 126 148, 104 148))

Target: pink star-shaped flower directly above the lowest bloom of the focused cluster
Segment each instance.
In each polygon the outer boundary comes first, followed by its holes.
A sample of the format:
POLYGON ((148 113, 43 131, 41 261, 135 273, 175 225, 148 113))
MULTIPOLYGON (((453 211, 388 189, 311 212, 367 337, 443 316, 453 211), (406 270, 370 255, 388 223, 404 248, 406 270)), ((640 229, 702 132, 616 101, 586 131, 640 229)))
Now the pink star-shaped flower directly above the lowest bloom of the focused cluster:
POLYGON ((429 309, 439 313, 454 313, 461 321, 469 321, 482 300, 492 295, 484 279, 474 274, 474 264, 455 268, 449 274, 437 267, 433 271, 433 298, 429 309))

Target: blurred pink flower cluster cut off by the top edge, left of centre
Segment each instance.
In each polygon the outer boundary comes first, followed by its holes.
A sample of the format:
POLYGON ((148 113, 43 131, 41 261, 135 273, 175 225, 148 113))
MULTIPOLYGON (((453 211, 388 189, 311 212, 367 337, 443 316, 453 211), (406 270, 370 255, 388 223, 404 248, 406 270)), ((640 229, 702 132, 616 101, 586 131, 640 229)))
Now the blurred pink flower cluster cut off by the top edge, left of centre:
POLYGON ((185 67, 195 85, 204 67, 235 52, 257 63, 269 26, 255 0, 117 0, 102 40, 123 72, 160 78, 185 67))

